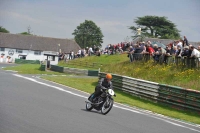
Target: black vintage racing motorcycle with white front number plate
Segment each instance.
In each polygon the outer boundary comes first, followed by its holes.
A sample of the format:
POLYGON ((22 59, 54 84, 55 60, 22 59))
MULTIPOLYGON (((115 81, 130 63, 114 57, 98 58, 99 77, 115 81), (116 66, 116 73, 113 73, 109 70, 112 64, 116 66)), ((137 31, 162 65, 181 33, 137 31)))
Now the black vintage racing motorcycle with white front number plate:
MULTIPOLYGON (((88 99, 91 98, 93 94, 90 95, 88 99)), ((91 111, 93 108, 97 111, 101 110, 103 115, 106 115, 113 107, 114 100, 112 96, 115 96, 115 92, 112 89, 105 90, 99 97, 96 97, 93 102, 86 102, 86 110, 91 111)))

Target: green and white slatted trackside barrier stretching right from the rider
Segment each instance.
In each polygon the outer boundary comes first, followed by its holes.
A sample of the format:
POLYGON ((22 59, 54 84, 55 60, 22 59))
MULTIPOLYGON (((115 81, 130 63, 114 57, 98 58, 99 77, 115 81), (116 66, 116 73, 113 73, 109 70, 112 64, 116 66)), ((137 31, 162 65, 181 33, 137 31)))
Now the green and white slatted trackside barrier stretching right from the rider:
MULTIPOLYGON (((99 73, 99 78, 105 73, 99 73)), ((200 91, 113 74, 113 88, 171 107, 200 113, 200 91)))

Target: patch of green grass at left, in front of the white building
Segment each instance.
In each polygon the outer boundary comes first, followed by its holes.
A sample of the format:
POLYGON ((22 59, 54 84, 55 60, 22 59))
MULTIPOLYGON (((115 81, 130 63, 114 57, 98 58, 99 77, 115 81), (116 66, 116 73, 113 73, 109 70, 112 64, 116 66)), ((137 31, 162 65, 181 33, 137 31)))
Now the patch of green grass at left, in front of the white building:
POLYGON ((64 73, 59 73, 59 72, 41 71, 39 64, 21 64, 21 65, 18 65, 18 66, 6 67, 6 68, 3 68, 3 69, 4 70, 18 71, 19 74, 50 74, 50 75, 54 74, 54 75, 65 75, 64 73))

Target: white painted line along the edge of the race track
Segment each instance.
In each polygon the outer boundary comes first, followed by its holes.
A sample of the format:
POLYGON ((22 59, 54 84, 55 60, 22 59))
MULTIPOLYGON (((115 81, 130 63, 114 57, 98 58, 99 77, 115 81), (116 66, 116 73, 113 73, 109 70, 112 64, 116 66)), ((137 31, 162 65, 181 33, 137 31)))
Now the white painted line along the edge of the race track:
MULTIPOLYGON (((35 80, 35 79, 33 79, 33 78, 24 77, 24 76, 18 75, 18 74, 13 74, 13 75, 16 76, 16 77, 28 79, 28 80, 33 81, 33 82, 38 83, 38 84, 42 84, 42 85, 45 85, 45 86, 48 86, 48 87, 55 88, 55 89, 57 89, 57 90, 59 90, 59 91, 63 91, 63 92, 66 92, 66 93, 69 93, 69 94, 72 94, 72 95, 75 95, 75 96, 78 96, 78 97, 87 98, 86 96, 79 95, 79 94, 73 93, 73 92, 71 92, 71 91, 67 91, 67 90, 62 89, 62 88, 60 88, 60 87, 53 86, 53 85, 49 85, 49 84, 46 84, 46 83, 43 83, 43 82, 39 82, 39 81, 37 81, 37 80, 35 80)), ((156 118, 156 119, 165 121, 165 122, 167 122, 167 123, 170 123, 170 124, 172 124, 172 125, 179 126, 179 127, 183 127, 183 128, 187 128, 187 129, 190 129, 190 130, 192 130, 192 131, 196 131, 196 132, 199 132, 199 133, 200 133, 200 130, 196 130, 196 129, 193 129, 193 128, 190 128, 190 127, 187 127, 187 126, 184 126, 184 125, 181 125, 181 124, 178 124, 178 123, 169 121, 169 120, 167 120, 167 119, 160 118, 161 116, 159 116, 159 115, 158 115, 159 117, 156 117, 156 116, 154 116, 154 115, 152 115, 152 114, 150 114, 150 113, 147 113, 147 112, 140 112, 140 111, 137 111, 137 110, 133 110, 133 109, 130 109, 130 108, 126 108, 126 107, 120 107, 120 106, 118 106, 118 105, 114 105, 114 107, 120 108, 120 109, 123 109, 123 110, 127 110, 127 111, 131 111, 131 112, 134 112, 134 113, 138 113, 138 114, 147 115, 147 116, 150 116, 150 117, 153 117, 153 118, 156 118)), ((185 122, 182 122, 182 121, 178 121, 178 122, 184 123, 184 124, 187 124, 187 125, 190 125, 190 126, 194 126, 194 127, 199 128, 198 125, 192 125, 192 124, 185 123, 185 122)))

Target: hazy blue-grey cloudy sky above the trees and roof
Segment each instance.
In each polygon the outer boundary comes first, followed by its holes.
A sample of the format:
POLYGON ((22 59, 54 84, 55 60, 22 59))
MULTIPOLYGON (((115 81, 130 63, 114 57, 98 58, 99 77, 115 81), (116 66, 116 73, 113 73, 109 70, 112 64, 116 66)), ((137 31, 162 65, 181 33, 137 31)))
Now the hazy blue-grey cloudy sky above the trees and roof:
POLYGON ((166 16, 189 41, 200 41, 200 0, 0 0, 0 26, 10 33, 73 38, 74 29, 92 20, 104 35, 103 46, 133 35, 136 17, 166 16))

